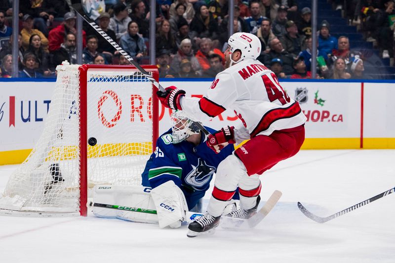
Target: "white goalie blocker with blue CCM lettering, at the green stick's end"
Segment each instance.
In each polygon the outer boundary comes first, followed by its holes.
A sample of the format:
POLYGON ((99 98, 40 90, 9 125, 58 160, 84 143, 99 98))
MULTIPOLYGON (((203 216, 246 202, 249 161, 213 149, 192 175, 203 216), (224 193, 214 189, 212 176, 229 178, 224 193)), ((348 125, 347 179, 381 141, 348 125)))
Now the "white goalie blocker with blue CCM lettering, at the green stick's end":
POLYGON ((180 227, 188 211, 184 193, 173 181, 167 181, 151 190, 157 207, 159 227, 180 227))

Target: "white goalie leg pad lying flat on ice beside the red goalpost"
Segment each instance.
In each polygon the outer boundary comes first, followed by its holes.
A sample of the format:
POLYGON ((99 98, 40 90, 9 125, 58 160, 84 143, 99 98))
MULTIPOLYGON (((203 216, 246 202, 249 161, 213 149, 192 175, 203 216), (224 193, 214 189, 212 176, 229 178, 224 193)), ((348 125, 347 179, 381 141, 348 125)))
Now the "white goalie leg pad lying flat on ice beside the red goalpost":
POLYGON ((139 208, 139 210, 156 210, 150 191, 142 186, 97 185, 93 188, 93 214, 102 218, 118 218, 133 222, 158 224, 156 214, 120 210, 110 207, 139 208), (109 207, 95 206, 106 204, 109 207))

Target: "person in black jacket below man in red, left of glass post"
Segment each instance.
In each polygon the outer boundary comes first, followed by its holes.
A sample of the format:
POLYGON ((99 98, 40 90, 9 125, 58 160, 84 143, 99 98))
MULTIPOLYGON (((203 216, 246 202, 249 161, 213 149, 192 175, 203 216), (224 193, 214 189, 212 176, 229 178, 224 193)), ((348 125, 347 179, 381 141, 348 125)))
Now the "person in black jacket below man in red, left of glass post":
POLYGON ((65 60, 70 64, 77 64, 76 36, 73 33, 68 33, 60 48, 53 52, 51 68, 55 69, 65 60))

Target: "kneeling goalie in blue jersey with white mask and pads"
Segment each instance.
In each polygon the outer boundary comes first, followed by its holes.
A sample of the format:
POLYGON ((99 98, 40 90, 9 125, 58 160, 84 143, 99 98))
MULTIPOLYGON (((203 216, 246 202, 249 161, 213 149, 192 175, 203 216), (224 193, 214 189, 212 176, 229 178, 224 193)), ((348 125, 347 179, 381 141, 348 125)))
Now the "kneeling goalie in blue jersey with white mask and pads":
MULTIPOLYGON (((190 210, 201 212, 201 199, 213 174, 235 150, 234 145, 216 154, 206 145, 206 135, 181 111, 171 115, 171 122, 172 128, 159 136, 157 148, 147 161, 143 186, 95 186, 94 215, 159 224, 163 228, 191 221, 190 210)), ((236 206, 235 199, 238 192, 230 201, 229 210, 236 206)))

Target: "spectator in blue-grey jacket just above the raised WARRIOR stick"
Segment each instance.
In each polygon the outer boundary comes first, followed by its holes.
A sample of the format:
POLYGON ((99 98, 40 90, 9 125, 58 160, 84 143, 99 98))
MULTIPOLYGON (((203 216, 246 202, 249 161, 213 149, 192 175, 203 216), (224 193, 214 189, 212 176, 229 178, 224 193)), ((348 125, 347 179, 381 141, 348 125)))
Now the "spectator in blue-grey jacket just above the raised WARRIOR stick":
POLYGON ((139 32, 139 26, 136 22, 130 21, 127 25, 128 32, 120 38, 120 46, 138 63, 141 62, 143 56, 147 54, 147 46, 139 32))

